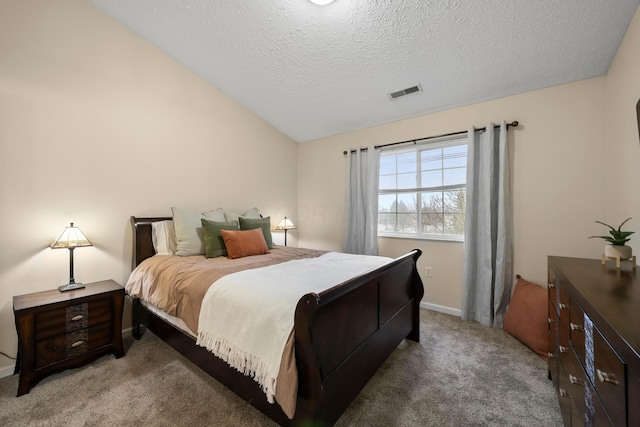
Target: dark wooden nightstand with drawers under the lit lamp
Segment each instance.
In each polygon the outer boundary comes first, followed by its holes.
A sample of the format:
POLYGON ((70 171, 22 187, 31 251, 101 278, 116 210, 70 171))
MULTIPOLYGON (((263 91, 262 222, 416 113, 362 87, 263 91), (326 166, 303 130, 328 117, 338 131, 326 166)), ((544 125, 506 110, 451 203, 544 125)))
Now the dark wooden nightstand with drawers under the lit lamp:
POLYGON ((124 288, 113 280, 88 283, 70 292, 37 292, 13 297, 18 331, 18 396, 42 378, 105 354, 124 356, 124 288))

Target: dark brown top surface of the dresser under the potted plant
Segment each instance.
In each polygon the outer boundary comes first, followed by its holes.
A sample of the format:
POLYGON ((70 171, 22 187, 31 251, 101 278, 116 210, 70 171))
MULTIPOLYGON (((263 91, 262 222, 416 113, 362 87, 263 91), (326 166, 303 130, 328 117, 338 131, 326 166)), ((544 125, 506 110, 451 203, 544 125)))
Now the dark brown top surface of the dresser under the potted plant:
MULTIPOLYGON (((629 360, 640 357, 640 267, 629 262, 549 257, 549 266, 569 286, 571 296, 629 360)), ((639 372, 640 373, 640 372, 639 372)))

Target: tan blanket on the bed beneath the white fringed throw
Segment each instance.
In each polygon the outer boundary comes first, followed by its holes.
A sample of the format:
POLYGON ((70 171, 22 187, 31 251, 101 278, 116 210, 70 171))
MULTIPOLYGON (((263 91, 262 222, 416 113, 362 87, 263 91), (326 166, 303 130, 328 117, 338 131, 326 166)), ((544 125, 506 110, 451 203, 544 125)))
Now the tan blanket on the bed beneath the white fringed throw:
MULTIPOLYGON (((270 254, 239 259, 204 256, 156 255, 146 259, 131 273, 125 286, 127 293, 162 311, 182 319, 198 334, 202 299, 219 278, 242 270, 266 267, 295 259, 314 258, 326 253, 311 249, 278 246, 270 254)), ((293 351, 293 333, 283 352, 276 401, 289 418, 293 417, 298 389, 293 351)))

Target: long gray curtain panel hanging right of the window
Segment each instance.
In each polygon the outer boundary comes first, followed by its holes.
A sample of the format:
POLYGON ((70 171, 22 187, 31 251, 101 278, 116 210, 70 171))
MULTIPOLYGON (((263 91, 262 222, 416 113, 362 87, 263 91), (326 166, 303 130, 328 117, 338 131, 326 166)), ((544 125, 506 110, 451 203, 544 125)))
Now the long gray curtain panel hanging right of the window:
POLYGON ((512 221, 507 126, 469 131, 462 318, 501 328, 511 298, 512 221))

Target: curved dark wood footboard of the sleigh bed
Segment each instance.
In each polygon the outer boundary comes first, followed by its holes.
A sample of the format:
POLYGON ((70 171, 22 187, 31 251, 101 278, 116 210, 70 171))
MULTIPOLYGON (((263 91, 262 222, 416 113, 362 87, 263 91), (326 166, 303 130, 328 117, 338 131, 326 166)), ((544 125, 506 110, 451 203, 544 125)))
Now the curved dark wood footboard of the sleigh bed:
POLYGON ((404 338, 419 341, 421 254, 300 300, 295 425, 332 425, 404 338))

